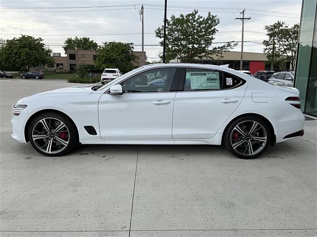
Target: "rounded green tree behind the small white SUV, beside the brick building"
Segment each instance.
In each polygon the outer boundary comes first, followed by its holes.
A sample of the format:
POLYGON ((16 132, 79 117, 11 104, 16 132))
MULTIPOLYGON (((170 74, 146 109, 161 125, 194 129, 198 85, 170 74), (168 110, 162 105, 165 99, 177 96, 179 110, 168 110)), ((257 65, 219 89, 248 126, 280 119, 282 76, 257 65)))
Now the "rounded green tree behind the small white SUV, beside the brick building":
POLYGON ((121 72, 133 69, 136 56, 133 54, 133 43, 104 42, 105 46, 97 49, 96 67, 118 68, 121 72))

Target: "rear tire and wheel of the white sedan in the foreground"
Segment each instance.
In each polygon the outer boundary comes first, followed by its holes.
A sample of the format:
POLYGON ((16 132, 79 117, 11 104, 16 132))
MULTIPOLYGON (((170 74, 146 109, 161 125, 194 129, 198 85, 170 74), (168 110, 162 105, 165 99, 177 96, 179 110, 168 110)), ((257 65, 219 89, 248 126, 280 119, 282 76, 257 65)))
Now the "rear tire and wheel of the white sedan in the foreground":
POLYGON ((227 127, 224 144, 236 157, 252 159, 265 151, 270 138, 268 124, 261 118, 248 116, 235 120, 227 127))

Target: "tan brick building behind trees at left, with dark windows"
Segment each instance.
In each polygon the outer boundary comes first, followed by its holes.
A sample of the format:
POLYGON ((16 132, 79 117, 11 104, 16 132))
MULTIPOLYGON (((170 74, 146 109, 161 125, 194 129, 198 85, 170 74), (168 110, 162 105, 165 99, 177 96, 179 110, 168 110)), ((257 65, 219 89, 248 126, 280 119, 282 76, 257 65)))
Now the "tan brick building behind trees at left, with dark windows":
MULTIPOLYGON (((136 56, 136 61, 132 64, 134 67, 142 66, 142 51, 133 51, 136 56)), ((79 64, 95 65, 96 51, 95 50, 77 50, 68 49, 66 56, 61 57, 60 53, 53 53, 54 64, 45 65, 43 67, 30 68, 30 71, 74 71, 79 64)), ((143 64, 146 62, 146 52, 143 52, 143 64)))

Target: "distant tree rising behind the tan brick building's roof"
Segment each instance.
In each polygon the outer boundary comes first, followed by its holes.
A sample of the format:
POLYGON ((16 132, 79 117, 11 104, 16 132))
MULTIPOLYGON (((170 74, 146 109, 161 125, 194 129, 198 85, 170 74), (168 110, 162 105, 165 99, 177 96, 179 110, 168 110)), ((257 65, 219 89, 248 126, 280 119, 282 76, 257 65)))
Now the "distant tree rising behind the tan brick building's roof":
POLYGON ((96 50, 98 44, 94 40, 90 40, 89 37, 77 38, 67 38, 64 41, 65 46, 63 49, 67 53, 67 49, 79 49, 79 50, 96 50))

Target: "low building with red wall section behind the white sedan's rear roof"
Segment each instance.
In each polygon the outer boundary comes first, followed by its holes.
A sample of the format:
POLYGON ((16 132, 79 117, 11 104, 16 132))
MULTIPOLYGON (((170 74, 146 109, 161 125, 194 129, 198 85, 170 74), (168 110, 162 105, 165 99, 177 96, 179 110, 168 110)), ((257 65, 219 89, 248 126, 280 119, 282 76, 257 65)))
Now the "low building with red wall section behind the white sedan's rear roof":
MULTIPOLYGON (((224 65, 229 64, 229 68, 240 70, 240 56, 241 52, 236 51, 220 51, 217 54, 213 54, 210 57, 198 58, 196 57, 195 63, 224 65)), ((280 71, 279 65, 274 65, 274 71, 280 71)), ((289 63, 286 63, 286 68, 289 69, 289 63)), ((243 53, 243 65, 242 70, 248 70, 251 73, 262 70, 270 70, 270 64, 267 62, 266 54, 264 53, 243 53)))

